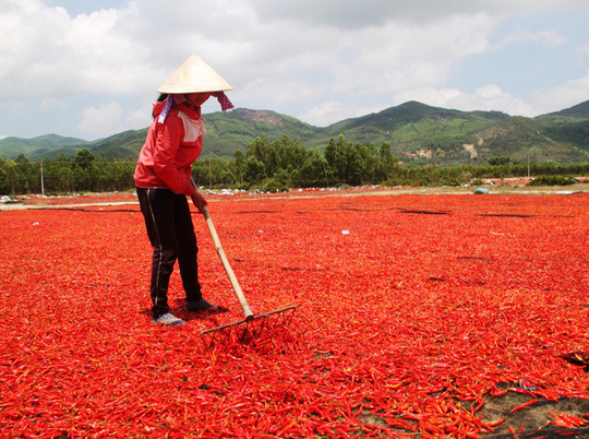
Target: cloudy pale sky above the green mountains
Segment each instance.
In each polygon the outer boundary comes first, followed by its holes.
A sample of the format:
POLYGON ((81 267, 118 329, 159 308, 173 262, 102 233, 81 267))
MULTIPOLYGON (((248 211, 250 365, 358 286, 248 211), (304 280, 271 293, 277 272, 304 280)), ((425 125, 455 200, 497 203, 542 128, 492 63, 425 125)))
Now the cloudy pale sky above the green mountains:
POLYGON ((587 0, 0 0, 0 138, 146 128, 192 54, 236 107, 315 127, 408 100, 536 117, 589 99, 587 23, 587 0))

